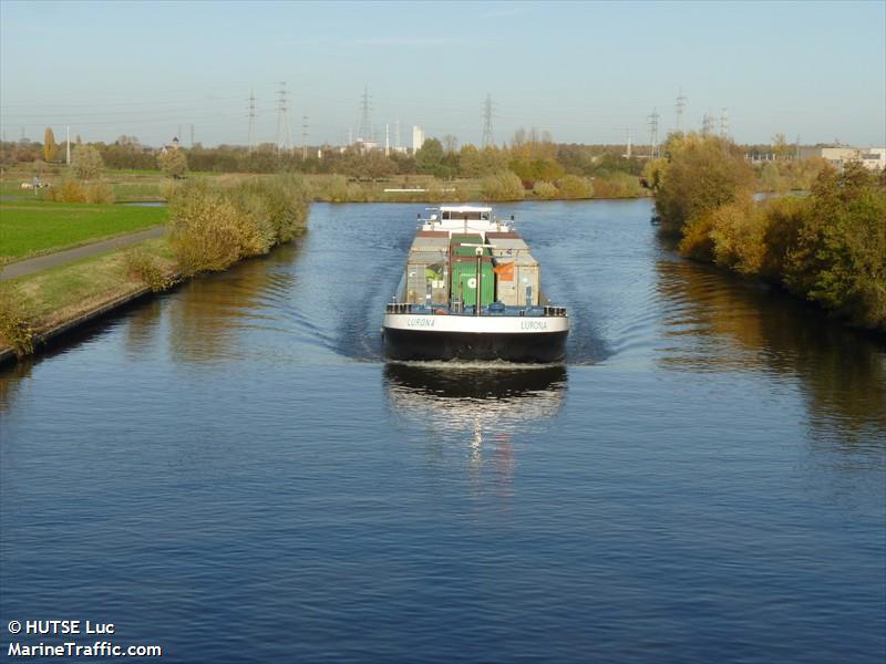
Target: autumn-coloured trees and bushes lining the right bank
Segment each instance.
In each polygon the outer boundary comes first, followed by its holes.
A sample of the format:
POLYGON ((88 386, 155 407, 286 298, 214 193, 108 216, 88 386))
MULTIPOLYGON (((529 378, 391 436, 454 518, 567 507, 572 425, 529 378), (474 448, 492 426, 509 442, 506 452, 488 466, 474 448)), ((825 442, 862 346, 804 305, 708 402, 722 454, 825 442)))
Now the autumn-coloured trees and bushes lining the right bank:
MULTIPOLYGON (((731 142, 673 135, 647 164, 663 232, 680 252, 776 283, 852 324, 886 332, 886 175, 859 163, 815 169, 808 195, 755 200, 731 142)), ((797 166, 802 168, 803 166, 797 166)))

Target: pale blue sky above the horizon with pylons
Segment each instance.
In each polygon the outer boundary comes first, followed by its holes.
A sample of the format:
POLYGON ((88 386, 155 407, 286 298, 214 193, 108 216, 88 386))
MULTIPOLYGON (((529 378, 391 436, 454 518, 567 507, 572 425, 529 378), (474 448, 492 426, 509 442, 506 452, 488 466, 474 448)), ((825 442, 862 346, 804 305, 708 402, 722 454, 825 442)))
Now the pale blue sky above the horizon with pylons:
POLYGON ((886 2, 0 2, 0 120, 42 139, 207 145, 276 138, 290 91, 292 143, 340 143, 371 120, 478 143, 483 101, 497 143, 517 127, 555 141, 648 143, 728 108, 739 142, 886 144, 886 2))

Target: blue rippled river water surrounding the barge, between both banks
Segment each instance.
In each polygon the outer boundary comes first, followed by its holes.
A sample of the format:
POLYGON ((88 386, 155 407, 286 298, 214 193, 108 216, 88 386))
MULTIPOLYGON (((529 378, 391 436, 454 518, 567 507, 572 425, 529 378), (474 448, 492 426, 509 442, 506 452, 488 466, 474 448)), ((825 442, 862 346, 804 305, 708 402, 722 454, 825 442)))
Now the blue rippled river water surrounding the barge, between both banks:
POLYGON ((522 204, 568 362, 385 364, 423 207, 317 205, 2 370, 4 652, 89 619, 172 662, 886 657, 882 343, 676 258, 648 201, 522 204))

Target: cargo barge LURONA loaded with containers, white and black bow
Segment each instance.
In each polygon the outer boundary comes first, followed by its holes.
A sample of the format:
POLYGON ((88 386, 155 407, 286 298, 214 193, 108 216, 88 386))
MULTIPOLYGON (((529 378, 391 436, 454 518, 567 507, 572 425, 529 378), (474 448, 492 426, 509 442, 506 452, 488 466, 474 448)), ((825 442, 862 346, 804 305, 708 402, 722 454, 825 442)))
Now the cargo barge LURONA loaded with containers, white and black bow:
POLYGON ((391 360, 564 360, 569 317, 540 288, 540 267, 490 207, 420 216, 406 268, 385 307, 391 360))

